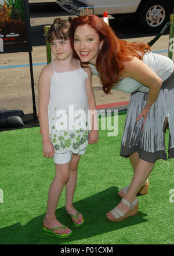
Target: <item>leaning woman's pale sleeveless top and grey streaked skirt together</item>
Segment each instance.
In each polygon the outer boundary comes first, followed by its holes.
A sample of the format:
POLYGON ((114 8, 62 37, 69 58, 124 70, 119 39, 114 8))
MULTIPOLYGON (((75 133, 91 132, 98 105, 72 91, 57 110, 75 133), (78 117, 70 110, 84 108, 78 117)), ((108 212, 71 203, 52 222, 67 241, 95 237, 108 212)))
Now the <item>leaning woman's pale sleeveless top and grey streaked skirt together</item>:
MULTIPOLYGON (((174 158, 174 64, 168 57, 152 52, 144 55, 143 62, 162 79, 160 93, 148 111, 143 131, 143 118, 139 121, 136 119, 146 107, 148 87, 128 77, 115 84, 112 89, 131 93, 120 156, 129 157, 130 154, 139 152, 141 159, 154 163, 160 158, 167 160, 165 118, 168 118, 170 132, 168 158, 174 158)), ((91 64, 90 67, 93 74, 98 75, 96 68, 91 64)))

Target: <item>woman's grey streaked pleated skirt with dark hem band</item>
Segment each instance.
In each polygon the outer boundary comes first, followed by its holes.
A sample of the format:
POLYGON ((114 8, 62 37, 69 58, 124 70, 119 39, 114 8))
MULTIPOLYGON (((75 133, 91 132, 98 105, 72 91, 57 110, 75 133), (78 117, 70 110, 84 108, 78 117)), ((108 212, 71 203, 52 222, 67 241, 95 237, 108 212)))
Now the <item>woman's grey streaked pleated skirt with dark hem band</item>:
POLYGON ((143 117, 137 117, 146 107, 148 93, 133 92, 122 136, 120 156, 129 157, 138 152, 139 157, 150 163, 158 159, 174 158, 174 72, 162 83, 157 100, 148 111, 143 126, 143 117), (168 157, 165 148, 165 118, 169 123, 168 157))

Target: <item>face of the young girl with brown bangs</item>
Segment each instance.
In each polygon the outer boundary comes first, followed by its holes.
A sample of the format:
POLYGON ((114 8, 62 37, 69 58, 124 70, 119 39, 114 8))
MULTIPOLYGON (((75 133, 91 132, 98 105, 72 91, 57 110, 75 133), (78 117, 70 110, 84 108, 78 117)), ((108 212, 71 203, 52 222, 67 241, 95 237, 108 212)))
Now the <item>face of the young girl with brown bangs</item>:
POLYGON ((50 43, 51 51, 53 55, 58 60, 65 60, 67 58, 73 57, 73 51, 71 48, 69 39, 53 39, 53 42, 50 43))

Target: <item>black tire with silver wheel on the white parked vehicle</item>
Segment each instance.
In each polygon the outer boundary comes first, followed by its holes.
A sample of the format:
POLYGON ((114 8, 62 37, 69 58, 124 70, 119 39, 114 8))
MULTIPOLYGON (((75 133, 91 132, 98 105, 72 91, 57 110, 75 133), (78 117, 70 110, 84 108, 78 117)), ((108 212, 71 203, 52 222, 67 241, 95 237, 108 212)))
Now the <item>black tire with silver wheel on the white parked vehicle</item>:
POLYGON ((147 0, 137 10, 137 19, 143 30, 159 32, 169 20, 171 9, 166 0, 147 0))

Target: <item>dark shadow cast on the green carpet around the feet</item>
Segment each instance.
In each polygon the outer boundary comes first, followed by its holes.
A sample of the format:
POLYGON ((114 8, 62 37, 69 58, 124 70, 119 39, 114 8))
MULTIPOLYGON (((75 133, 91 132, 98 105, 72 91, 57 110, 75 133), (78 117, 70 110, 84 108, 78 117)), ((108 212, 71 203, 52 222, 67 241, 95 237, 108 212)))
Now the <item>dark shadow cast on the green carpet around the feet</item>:
MULTIPOLYGON (((56 237, 42 234, 42 223, 45 214, 31 219, 26 225, 16 223, 12 226, 0 229, 0 244, 73 244, 75 240, 82 240, 82 244, 89 244, 88 238, 102 235, 113 230, 146 222, 147 214, 138 212, 135 217, 129 217, 121 222, 107 221, 106 212, 113 209, 120 201, 117 196, 118 188, 112 186, 93 196, 79 200, 74 207, 84 215, 85 223, 81 228, 75 228, 66 214, 65 208, 56 210, 57 219, 68 228, 73 230, 73 235, 67 239, 56 239, 56 237)), ((106 244, 108 241, 106 239, 106 244)))

